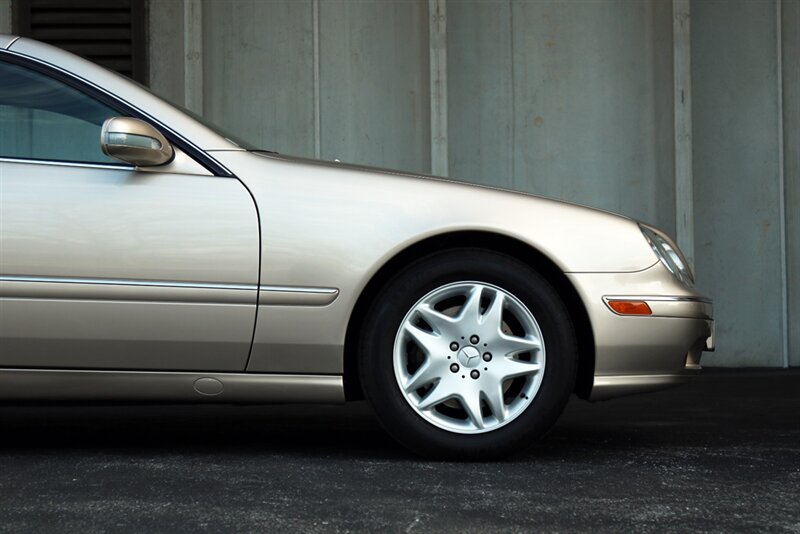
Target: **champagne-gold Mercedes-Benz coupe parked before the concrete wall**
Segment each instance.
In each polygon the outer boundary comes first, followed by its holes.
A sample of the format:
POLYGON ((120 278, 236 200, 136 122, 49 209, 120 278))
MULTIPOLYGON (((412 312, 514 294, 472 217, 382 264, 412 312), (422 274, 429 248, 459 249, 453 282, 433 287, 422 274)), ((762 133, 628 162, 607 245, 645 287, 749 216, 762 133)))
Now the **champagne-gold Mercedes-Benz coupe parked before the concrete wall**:
POLYGON ((713 326, 652 226, 259 150, 0 36, 0 399, 366 398, 411 449, 486 459, 573 393, 686 381, 713 326))

